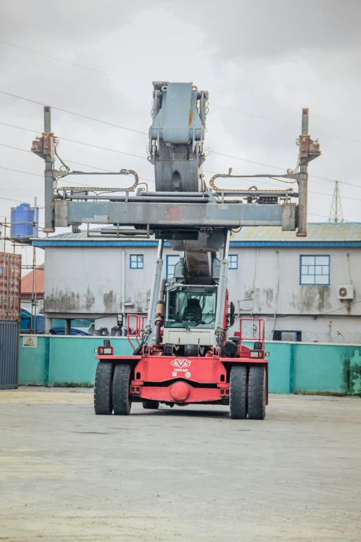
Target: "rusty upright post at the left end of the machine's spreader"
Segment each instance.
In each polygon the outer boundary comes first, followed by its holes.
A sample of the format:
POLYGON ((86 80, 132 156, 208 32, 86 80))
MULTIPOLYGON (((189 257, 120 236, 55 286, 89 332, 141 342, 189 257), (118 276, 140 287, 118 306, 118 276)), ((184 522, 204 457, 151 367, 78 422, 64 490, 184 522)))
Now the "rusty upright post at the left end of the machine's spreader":
POLYGON ((54 134, 51 132, 51 109, 44 107, 44 231, 52 233, 54 228, 54 134))

